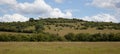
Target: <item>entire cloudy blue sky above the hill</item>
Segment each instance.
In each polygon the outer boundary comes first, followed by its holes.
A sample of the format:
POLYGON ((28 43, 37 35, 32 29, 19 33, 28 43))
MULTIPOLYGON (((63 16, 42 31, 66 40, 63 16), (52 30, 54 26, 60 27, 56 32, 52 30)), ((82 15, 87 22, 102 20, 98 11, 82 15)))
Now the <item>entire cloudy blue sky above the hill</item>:
POLYGON ((120 0, 0 0, 0 22, 39 17, 120 23, 120 0))

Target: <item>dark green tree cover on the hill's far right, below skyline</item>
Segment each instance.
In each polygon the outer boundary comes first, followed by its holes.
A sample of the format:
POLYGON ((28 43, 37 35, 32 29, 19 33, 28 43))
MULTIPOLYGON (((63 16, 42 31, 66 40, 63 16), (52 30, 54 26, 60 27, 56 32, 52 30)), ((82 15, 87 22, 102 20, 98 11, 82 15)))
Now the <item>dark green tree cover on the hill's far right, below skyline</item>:
POLYGON ((112 23, 112 22, 86 22, 81 24, 85 27, 91 27, 98 30, 103 30, 103 29, 115 29, 115 30, 120 30, 120 23, 112 23))

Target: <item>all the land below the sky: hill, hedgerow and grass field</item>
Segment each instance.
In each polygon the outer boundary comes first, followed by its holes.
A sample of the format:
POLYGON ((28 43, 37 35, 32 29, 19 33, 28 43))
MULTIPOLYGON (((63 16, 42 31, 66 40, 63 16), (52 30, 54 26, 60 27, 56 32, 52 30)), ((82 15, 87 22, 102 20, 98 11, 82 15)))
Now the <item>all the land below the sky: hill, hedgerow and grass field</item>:
POLYGON ((120 23, 48 18, 0 22, 0 54, 120 54, 120 23))

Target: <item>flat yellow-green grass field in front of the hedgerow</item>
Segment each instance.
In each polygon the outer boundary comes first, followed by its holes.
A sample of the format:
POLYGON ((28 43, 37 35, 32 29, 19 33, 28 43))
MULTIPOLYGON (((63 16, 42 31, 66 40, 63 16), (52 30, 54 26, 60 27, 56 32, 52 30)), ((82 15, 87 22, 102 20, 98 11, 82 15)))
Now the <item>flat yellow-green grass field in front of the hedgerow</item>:
POLYGON ((120 54, 120 42, 0 42, 0 54, 120 54))

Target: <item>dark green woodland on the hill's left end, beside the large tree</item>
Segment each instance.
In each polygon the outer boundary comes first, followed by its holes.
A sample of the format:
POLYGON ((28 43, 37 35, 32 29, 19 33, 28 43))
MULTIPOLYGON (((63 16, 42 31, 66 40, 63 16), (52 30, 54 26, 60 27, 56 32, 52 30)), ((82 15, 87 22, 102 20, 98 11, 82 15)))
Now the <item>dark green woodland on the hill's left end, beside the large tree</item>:
POLYGON ((33 30, 25 30, 25 28, 33 25, 35 25, 33 22, 1 22, 0 31, 32 33, 33 30))

